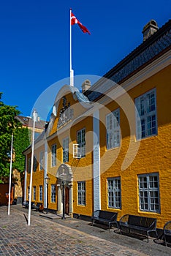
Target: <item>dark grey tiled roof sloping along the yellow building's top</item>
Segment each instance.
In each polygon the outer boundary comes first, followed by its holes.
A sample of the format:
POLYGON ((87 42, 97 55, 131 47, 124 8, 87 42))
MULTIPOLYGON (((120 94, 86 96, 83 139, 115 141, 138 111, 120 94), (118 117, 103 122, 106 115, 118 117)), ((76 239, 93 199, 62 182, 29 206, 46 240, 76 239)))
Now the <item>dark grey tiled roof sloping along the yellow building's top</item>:
MULTIPOLYGON (((170 50, 171 45, 171 20, 161 27, 151 37, 142 42, 136 49, 129 53, 122 61, 120 61, 113 69, 110 69, 102 79, 98 80, 94 86, 86 91, 86 96, 90 101, 94 101, 102 97, 102 91, 105 92, 110 87, 104 83, 104 78, 113 80, 115 83, 122 83, 134 73, 140 71, 143 67, 150 64, 154 59, 158 58, 162 53, 170 50), (104 86, 103 86, 104 85, 104 86), (98 89, 103 88, 101 92, 98 89)), ((113 83, 114 84, 114 83, 113 83)), ((110 84, 112 86, 112 83, 110 84)))

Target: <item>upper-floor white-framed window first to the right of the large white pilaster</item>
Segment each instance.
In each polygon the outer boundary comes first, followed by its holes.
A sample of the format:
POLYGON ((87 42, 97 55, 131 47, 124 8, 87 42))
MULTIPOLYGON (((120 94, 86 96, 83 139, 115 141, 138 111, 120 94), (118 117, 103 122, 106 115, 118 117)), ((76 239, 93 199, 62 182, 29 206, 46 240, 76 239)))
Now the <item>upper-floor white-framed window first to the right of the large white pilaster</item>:
POLYGON ((106 116, 107 149, 116 148, 121 144, 120 110, 119 108, 106 116))

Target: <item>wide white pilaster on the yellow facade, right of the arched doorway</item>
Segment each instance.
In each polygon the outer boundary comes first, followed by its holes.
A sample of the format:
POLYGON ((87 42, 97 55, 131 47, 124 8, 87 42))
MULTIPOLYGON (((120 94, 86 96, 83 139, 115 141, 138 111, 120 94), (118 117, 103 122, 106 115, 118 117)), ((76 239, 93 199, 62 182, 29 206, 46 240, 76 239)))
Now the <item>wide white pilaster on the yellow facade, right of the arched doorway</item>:
POLYGON ((94 211, 101 209, 101 184, 100 184, 100 147, 99 147, 99 110, 94 112, 94 211))

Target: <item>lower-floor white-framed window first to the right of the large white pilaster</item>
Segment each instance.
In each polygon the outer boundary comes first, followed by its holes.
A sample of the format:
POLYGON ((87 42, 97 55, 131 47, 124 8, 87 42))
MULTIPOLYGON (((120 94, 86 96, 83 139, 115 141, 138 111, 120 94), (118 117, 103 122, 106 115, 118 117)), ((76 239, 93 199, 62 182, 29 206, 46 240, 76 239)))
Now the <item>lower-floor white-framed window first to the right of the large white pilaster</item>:
POLYGON ((121 178, 108 178, 108 207, 121 208, 121 178))

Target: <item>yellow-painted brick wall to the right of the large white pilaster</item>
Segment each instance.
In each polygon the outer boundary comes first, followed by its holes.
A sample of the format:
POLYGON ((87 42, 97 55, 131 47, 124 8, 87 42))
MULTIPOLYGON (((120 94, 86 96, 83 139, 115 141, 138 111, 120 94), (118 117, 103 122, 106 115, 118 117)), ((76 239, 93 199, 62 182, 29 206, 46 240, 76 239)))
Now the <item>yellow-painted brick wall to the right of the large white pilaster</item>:
MULTIPOLYGON (((122 132, 121 147, 107 150, 106 138, 103 136, 104 127, 101 127, 101 159, 102 156, 105 155, 105 158, 102 159, 101 162, 101 199, 102 209, 109 209, 107 202, 107 178, 121 176, 121 210, 110 210, 118 211, 118 219, 120 219, 123 214, 140 214, 142 216, 156 217, 157 227, 163 227, 164 223, 171 219, 171 110, 168 105, 171 95, 169 67, 130 90, 129 95, 132 97, 132 100, 134 100, 136 97, 145 94, 145 92, 153 88, 156 88, 158 135, 140 140, 140 148, 137 151, 137 155, 126 170, 121 170, 121 165, 129 147, 129 123, 123 110, 120 108, 120 125, 122 132), (112 163, 111 166, 107 166, 107 162, 112 163), (159 173, 159 196, 161 204, 159 214, 139 210, 137 175, 143 173, 159 173)), ((110 110, 115 110, 118 108, 118 105, 113 103, 108 105, 108 107, 110 110)), ((135 114, 132 115, 132 121, 135 126, 134 116, 135 114)), ((104 118, 103 110, 101 111, 101 118, 104 118)), ((134 135, 132 135, 132 140, 134 140, 134 147, 136 148, 139 142, 136 141, 134 135)))

